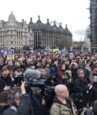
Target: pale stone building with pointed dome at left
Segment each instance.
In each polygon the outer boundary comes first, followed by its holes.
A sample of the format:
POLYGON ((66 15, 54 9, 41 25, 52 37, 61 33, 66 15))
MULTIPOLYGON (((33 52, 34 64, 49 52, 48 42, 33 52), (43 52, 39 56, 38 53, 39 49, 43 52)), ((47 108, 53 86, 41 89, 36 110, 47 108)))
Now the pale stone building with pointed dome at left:
POLYGON ((16 21, 11 12, 8 21, 0 21, 0 48, 23 48, 34 45, 34 33, 24 20, 16 21))

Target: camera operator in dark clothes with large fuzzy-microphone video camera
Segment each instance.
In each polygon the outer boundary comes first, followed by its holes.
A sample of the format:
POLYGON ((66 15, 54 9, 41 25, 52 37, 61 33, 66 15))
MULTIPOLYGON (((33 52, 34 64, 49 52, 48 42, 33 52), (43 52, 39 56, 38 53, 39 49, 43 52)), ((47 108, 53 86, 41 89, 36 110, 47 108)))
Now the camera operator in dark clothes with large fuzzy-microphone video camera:
POLYGON ((32 99, 34 115, 48 115, 46 101, 43 97, 45 91, 45 75, 45 69, 41 69, 41 73, 39 70, 31 68, 28 68, 24 72, 24 81, 32 99))

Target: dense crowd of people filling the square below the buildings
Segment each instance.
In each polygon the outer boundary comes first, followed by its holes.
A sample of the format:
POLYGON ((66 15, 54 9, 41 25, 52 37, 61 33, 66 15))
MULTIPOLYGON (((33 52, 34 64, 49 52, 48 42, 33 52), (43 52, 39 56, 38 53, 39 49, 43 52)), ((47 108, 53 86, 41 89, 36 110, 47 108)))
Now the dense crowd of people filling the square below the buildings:
POLYGON ((97 115, 96 100, 96 53, 18 50, 14 60, 0 55, 0 115, 82 115, 90 107, 97 115))

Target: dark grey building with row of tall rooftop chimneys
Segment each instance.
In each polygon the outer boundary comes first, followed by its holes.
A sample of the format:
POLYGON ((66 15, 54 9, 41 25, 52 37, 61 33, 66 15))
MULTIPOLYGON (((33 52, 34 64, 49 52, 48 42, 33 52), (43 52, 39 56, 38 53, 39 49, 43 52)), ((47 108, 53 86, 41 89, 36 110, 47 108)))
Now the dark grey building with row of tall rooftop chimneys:
POLYGON ((60 23, 57 26, 56 21, 53 25, 47 19, 47 23, 42 23, 40 16, 38 21, 33 23, 30 18, 29 28, 34 32, 34 47, 45 47, 45 48, 70 48, 72 45, 72 33, 69 31, 67 25, 64 29, 60 23))

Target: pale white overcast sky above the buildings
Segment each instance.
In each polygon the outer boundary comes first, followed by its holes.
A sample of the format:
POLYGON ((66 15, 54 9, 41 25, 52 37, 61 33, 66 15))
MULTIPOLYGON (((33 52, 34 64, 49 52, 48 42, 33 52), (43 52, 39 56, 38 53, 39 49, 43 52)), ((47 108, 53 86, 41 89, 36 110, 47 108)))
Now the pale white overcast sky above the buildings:
POLYGON ((56 20, 73 33, 73 40, 84 39, 85 30, 89 25, 89 0, 0 0, 0 20, 8 20, 13 11, 17 21, 25 19, 29 23, 37 21, 38 15, 42 22, 56 20))

